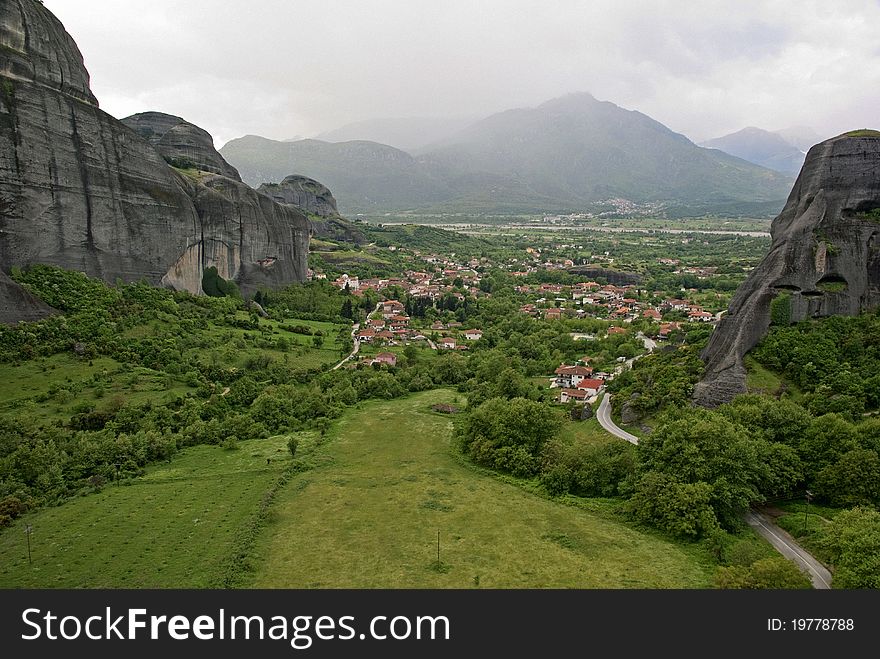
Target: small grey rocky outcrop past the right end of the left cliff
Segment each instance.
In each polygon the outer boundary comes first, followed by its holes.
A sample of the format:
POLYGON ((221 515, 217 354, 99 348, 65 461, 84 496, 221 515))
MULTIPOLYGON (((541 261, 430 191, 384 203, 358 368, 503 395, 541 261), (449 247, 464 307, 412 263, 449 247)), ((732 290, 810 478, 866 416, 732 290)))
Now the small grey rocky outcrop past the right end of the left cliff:
POLYGON ((317 238, 355 244, 366 242, 364 233, 339 214, 333 193, 323 183, 292 174, 281 183, 263 183, 258 191, 281 204, 305 211, 312 222, 312 235, 317 238))

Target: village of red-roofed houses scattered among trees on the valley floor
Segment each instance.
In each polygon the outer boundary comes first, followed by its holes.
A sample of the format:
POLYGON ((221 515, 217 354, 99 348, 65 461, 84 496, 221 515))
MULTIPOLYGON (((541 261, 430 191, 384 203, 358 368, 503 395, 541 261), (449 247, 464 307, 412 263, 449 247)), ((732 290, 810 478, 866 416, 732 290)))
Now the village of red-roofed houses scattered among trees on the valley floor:
MULTIPOLYGON (((397 247, 395 251, 403 252, 404 248, 397 247)), ((637 336, 652 344, 655 340, 662 342, 693 324, 716 323, 723 314, 723 311, 712 313, 685 299, 689 293, 687 290, 681 291, 681 297, 669 297, 662 291, 648 291, 637 284, 615 285, 594 280, 537 283, 533 281, 536 273, 565 272, 574 263, 565 258, 548 258, 540 249, 529 247, 525 252, 524 258, 496 263, 487 257, 455 259, 454 254, 442 257, 412 250, 412 257, 423 264, 419 270, 407 269, 401 276, 389 278, 342 274, 332 280, 330 283, 335 287, 355 297, 374 291, 383 298, 393 295, 404 300, 380 299, 373 312, 353 332, 355 351, 350 357, 359 353, 359 358, 349 359, 346 367, 393 368, 398 364, 400 349, 406 346, 438 352, 471 350, 483 338, 484 328, 455 320, 448 310, 464 303, 467 298, 492 297, 492 287, 485 284, 490 273, 493 281, 497 280, 498 271, 507 276, 517 299, 522 301, 519 312, 538 322, 566 319, 605 321, 602 333, 570 332, 572 339, 584 342, 585 348, 589 342, 608 336, 637 336), (426 313, 427 310, 431 311, 426 313), (360 351, 362 347, 366 348, 363 352, 360 351)), ((598 255, 595 260, 608 262, 612 259, 598 255)), ((714 273, 711 267, 681 266, 678 259, 660 258, 657 261, 674 268, 675 274, 705 278, 714 273)), ((321 273, 312 273, 312 276, 325 278, 321 273)), ((648 344, 645 345, 647 348, 648 344)), ((618 357, 616 368, 594 370, 590 364, 592 359, 584 355, 575 363, 560 363, 552 376, 548 376, 548 387, 558 390, 557 402, 595 402, 604 391, 605 383, 627 361, 626 357, 618 357)))

